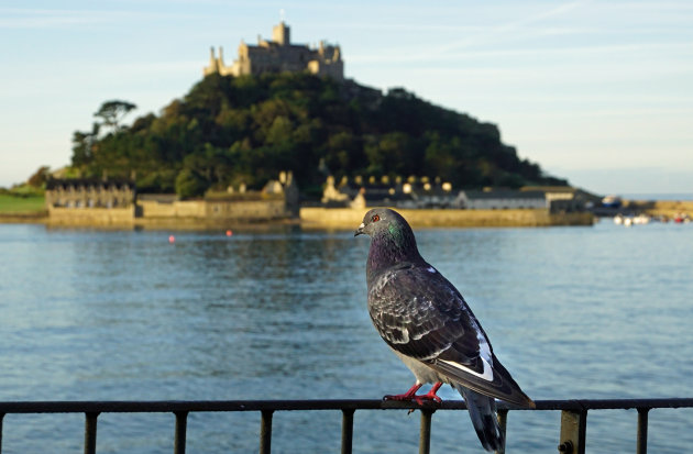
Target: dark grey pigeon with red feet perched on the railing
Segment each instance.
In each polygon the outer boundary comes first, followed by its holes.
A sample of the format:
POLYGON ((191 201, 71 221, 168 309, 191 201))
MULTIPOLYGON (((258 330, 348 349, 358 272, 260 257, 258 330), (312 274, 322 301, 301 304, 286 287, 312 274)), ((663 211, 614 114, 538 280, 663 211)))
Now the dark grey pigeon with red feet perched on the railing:
POLYGON ((384 399, 440 402, 443 384, 466 402, 486 451, 502 451, 495 399, 535 408, 493 353, 488 336, 460 291, 421 257, 407 221, 387 208, 370 210, 354 236, 371 236, 366 262, 369 313, 378 334, 414 373, 405 394, 384 399), (433 384, 417 395, 424 384, 433 384))

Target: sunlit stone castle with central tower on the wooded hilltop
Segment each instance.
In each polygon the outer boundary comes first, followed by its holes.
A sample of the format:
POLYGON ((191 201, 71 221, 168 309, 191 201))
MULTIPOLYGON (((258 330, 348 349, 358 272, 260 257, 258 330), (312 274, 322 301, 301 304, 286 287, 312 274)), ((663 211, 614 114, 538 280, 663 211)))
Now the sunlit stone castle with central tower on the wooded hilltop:
POLYGON ((219 56, 211 48, 209 66, 204 68, 205 76, 220 74, 222 76, 258 75, 263 73, 300 73, 308 71, 317 76, 330 76, 336 80, 344 79, 344 64, 339 46, 321 41, 318 48, 290 43, 290 29, 282 21, 272 29, 272 41, 257 37, 257 45, 248 45, 243 41, 239 45, 238 59, 233 65, 223 63, 223 48, 219 47, 219 56))

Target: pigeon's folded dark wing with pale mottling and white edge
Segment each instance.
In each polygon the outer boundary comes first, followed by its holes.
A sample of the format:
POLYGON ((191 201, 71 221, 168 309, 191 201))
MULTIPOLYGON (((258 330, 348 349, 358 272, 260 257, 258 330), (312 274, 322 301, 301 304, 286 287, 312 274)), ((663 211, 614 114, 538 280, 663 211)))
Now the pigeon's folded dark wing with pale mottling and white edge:
POLYGON ((383 273, 369 290, 369 312, 397 352, 483 395, 532 406, 493 354, 462 295, 428 264, 383 273))

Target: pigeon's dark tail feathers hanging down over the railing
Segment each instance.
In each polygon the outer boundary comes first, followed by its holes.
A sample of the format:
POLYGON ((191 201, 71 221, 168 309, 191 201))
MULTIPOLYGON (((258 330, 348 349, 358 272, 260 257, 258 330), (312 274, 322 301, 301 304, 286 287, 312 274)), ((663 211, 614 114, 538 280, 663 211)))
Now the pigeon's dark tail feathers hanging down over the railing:
POLYGON ((486 451, 503 451, 505 439, 498 424, 496 401, 493 397, 472 391, 461 385, 453 387, 462 395, 476 430, 476 435, 486 451))

